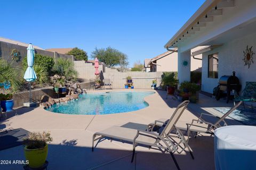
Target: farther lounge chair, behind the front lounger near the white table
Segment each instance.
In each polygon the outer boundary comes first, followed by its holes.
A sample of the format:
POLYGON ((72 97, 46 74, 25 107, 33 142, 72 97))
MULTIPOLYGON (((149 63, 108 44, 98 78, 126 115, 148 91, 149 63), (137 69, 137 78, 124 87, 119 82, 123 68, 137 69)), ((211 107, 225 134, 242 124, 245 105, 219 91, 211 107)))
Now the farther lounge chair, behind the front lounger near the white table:
MULTIPOLYGON (((227 126, 228 124, 225 122, 225 118, 232 113, 233 111, 235 111, 235 109, 242 104, 242 101, 239 101, 239 103, 237 103, 235 106, 233 106, 232 108, 230 108, 230 110, 223 114, 223 116, 218 117, 218 116, 214 116, 211 114, 204 114, 202 113, 201 116, 198 118, 198 120, 192 120, 191 124, 187 124, 188 126, 188 140, 189 140, 189 135, 190 132, 195 132, 195 137, 197 135, 197 133, 209 133, 211 135, 214 134, 214 130, 217 128, 220 128, 221 126, 227 126), (213 124, 210 122, 207 122, 204 120, 203 116, 212 116, 217 118, 217 121, 213 124)), ((188 142, 188 141, 187 141, 188 142)))

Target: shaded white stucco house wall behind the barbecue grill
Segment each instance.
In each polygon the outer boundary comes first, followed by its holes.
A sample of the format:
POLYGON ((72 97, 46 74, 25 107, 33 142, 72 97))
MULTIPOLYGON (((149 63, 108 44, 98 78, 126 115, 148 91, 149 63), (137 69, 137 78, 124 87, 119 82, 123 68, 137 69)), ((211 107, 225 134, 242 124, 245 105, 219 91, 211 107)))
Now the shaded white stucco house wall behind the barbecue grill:
MULTIPOLYGON (((250 66, 244 66, 243 51, 246 46, 252 47, 256 53, 256 33, 244 36, 242 38, 234 39, 223 46, 203 54, 203 67, 202 67, 202 91, 210 92, 212 94, 213 88, 218 85, 219 79, 222 75, 232 75, 236 72, 242 89, 245 88, 246 81, 256 81, 256 62, 250 66), (219 53, 219 66, 218 66, 218 79, 208 78, 208 55, 219 53)), ((255 54, 254 54, 255 58, 255 54)))

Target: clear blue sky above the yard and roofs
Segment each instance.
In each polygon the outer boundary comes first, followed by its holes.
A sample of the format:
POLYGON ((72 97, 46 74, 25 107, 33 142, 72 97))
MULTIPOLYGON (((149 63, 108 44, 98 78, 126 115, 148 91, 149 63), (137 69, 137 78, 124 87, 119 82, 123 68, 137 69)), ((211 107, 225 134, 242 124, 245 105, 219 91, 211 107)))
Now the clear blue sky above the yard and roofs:
POLYGON ((204 0, 0 1, 0 37, 44 49, 78 47, 89 57, 111 46, 130 66, 164 53, 165 43, 204 0))

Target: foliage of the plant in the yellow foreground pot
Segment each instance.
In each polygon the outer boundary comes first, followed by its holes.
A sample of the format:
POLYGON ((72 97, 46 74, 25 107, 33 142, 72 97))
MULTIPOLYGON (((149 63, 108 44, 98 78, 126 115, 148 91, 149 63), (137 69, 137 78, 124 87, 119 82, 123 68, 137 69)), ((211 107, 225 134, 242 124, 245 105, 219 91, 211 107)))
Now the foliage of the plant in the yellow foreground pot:
POLYGON ((25 138, 23 144, 27 146, 28 149, 40 149, 46 146, 47 142, 51 142, 50 132, 29 132, 28 138, 25 138))

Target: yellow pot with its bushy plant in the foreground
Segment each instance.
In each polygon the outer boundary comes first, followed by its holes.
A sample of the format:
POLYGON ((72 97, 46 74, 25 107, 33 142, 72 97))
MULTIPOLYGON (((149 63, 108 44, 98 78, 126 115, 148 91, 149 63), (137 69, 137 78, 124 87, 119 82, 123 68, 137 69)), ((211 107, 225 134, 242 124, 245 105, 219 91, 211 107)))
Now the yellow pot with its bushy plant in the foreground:
POLYGON ((29 133, 28 138, 24 139, 25 157, 30 168, 40 168, 44 165, 48 154, 47 142, 51 141, 50 132, 29 133))

